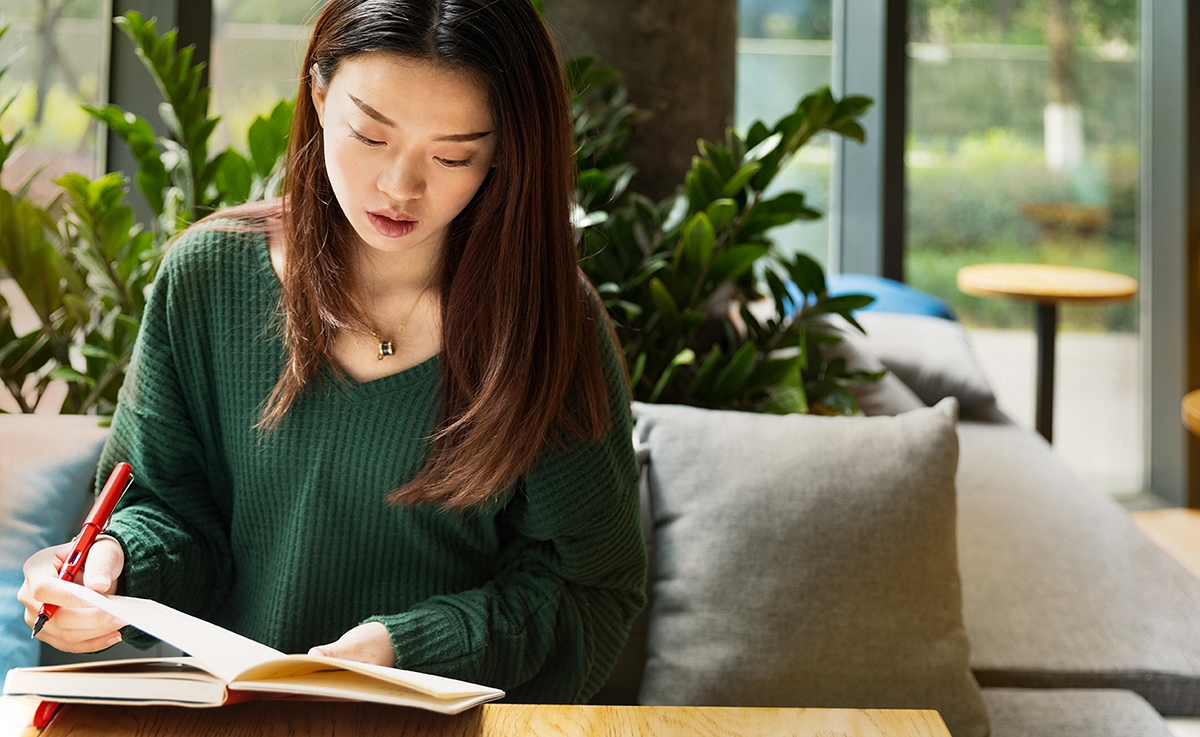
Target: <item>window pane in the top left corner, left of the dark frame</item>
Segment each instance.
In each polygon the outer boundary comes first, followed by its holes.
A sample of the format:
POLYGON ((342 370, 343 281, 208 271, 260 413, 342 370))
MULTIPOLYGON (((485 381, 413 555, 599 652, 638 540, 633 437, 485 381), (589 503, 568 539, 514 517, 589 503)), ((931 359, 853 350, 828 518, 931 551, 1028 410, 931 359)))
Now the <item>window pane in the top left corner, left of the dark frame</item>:
POLYGON ((56 193, 53 180, 70 172, 100 173, 97 125, 80 104, 100 102, 107 73, 107 23, 101 0, 5 0, 0 28, 0 118, 8 138, 24 130, 4 167, 2 186, 17 190, 34 178, 29 197, 44 204, 56 193))

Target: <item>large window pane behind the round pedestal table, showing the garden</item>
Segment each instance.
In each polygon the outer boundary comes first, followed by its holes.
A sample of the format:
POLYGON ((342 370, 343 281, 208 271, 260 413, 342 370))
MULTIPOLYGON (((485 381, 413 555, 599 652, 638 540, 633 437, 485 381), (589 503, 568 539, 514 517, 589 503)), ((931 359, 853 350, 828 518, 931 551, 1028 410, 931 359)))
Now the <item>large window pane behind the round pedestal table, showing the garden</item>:
MULTIPOLYGON (((914 0, 906 278, 954 306, 1001 408, 1032 427, 1033 308, 966 296, 967 264, 1138 276, 1138 0, 914 0)), ((1055 450, 1141 486, 1138 304, 1064 306, 1055 450)))

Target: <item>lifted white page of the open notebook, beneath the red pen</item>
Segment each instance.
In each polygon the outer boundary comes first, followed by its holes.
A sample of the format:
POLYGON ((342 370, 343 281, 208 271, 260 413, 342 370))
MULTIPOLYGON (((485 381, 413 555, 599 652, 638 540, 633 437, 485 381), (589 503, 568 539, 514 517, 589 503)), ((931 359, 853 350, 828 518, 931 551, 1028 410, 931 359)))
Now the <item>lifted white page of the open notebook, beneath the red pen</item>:
POLYGON ((106 597, 84 586, 73 593, 96 609, 174 645, 227 683, 256 665, 287 658, 275 648, 150 599, 106 597))

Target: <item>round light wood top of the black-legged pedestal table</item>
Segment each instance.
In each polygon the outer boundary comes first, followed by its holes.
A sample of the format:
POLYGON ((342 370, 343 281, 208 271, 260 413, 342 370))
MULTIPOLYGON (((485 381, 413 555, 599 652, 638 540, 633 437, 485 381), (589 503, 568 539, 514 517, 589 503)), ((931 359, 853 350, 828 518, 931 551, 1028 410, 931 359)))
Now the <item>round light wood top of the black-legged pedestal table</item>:
POLYGON ((965 294, 1033 301, 1120 301, 1138 293, 1138 281, 1123 274, 1050 264, 962 266, 958 282, 965 294))

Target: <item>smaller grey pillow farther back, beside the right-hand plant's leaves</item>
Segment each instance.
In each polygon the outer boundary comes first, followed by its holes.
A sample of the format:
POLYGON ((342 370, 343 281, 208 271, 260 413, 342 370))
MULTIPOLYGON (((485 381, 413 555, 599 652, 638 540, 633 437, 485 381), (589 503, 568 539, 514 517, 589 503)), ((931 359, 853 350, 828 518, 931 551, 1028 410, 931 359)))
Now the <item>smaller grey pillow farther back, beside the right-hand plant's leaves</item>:
POLYGON ((926 405, 953 396, 965 418, 995 408, 996 396, 959 323, 872 310, 858 311, 854 319, 866 330, 868 349, 926 405))

